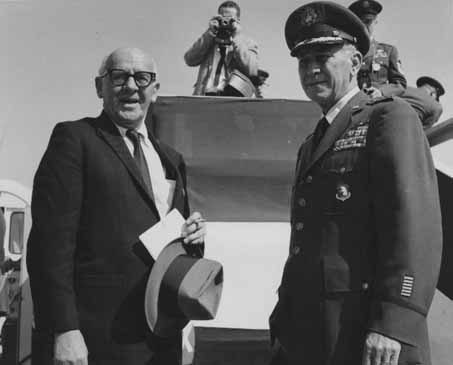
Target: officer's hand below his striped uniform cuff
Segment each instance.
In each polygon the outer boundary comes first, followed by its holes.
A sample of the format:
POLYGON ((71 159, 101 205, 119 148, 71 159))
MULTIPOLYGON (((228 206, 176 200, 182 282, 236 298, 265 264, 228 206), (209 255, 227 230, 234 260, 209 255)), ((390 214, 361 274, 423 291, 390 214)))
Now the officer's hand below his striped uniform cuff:
POLYGON ((398 365, 401 344, 379 333, 368 333, 362 365, 398 365))

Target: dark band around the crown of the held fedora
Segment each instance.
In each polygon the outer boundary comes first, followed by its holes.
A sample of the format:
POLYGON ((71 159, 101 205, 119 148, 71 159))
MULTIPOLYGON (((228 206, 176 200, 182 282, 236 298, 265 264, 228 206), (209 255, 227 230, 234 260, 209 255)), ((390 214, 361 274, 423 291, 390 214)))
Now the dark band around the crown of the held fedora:
POLYGON ((165 272, 159 290, 159 307, 172 317, 185 318, 178 305, 179 287, 197 259, 188 255, 175 257, 165 272), (177 261, 177 265, 175 262, 177 261))

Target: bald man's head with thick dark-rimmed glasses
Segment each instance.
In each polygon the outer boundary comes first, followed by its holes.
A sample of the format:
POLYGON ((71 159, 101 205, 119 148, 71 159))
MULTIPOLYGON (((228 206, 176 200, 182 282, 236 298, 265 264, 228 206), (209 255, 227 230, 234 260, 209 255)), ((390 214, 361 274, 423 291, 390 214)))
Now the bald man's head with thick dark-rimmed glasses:
POLYGON ((96 91, 110 119, 125 128, 136 128, 157 99, 157 68, 153 58, 139 48, 118 48, 102 61, 96 91))

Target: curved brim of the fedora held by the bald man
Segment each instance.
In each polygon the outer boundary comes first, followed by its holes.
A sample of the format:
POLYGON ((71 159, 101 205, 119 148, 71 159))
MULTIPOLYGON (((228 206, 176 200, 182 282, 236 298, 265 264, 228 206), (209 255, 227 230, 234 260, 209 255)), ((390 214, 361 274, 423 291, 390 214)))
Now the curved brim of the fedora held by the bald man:
POLYGON ((169 243, 159 254, 149 274, 145 291, 145 316, 153 333, 162 337, 171 337, 183 329, 189 320, 173 318, 159 310, 159 292, 162 279, 173 260, 186 254, 180 239, 169 243))

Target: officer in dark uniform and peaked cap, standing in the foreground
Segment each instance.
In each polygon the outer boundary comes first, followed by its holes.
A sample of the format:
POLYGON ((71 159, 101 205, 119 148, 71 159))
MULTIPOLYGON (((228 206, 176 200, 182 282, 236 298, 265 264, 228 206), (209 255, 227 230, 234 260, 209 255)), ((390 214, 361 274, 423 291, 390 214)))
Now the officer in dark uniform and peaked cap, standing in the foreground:
POLYGON ((442 232, 421 123, 403 100, 359 90, 370 40, 345 7, 306 4, 285 37, 323 117, 297 157, 272 363, 429 365, 442 232))

